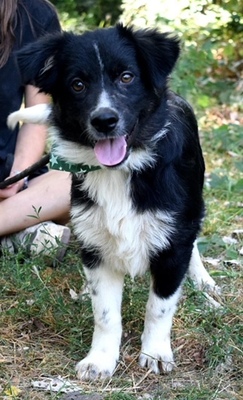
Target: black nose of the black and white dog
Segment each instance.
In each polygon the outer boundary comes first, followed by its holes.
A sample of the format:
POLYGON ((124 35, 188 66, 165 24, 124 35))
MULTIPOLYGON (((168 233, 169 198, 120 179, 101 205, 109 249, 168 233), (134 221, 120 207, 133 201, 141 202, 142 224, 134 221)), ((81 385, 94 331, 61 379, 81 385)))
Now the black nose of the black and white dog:
POLYGON ((91 125, 98 131, 109 133, 117 125, 118 114, 109 108, 100 108, 91 117, 91 125))

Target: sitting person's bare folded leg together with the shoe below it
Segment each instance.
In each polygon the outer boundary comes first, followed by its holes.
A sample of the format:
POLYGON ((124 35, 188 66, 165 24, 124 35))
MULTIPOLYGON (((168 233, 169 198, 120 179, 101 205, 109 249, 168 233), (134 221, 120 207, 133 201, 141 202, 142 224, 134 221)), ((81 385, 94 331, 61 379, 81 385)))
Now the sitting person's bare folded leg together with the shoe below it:
POLYGON ((10 252, 21 247, 29 254, 61 260, 71 233, 60 225, 69 221, 70 186, 69 174, 51 171, 0 202, 1 247, 10 252))

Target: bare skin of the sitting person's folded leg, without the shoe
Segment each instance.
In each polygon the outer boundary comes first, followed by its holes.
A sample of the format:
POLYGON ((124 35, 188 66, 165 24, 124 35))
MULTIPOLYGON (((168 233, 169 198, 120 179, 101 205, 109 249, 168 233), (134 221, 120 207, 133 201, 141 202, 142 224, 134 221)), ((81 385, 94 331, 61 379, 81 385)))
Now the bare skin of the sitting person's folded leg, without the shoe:
POLYGON ((67 172, 50 171, 32 179, 28 189, 0 202, 0 237, 44 221, 67 223, 70 188, 67 172))

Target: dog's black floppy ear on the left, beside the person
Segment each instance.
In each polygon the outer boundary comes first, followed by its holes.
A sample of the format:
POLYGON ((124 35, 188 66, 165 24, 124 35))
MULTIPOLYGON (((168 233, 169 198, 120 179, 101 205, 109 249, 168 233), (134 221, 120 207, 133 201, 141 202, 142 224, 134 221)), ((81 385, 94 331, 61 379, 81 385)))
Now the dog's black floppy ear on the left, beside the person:
POLYGON ((46 35, 16 53, 16 60, 24 85, 32 84, 51 93, 58 77, 57 59, 62 51, 65 34, 46 35))

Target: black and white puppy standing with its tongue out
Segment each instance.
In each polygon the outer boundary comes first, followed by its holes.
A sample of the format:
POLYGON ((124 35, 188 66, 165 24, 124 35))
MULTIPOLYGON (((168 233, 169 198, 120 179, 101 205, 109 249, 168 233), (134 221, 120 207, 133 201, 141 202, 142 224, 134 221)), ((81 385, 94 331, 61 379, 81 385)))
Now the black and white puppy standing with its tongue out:
POLYGON ((151 272, 139 361, 155 373, 174 365, 170 332, 187 271, 215 288, 195 242, 204 216, 197 122, 167 87, 178 56, 177 38, 122 25, 47 36, 17 55, 23 83, 53 104, 17 111, 9 124, 45 122, 60 158, 100 167, 72 177, 71 216, 95 319, 80 379, 114 372, 126 273, 151 272))

